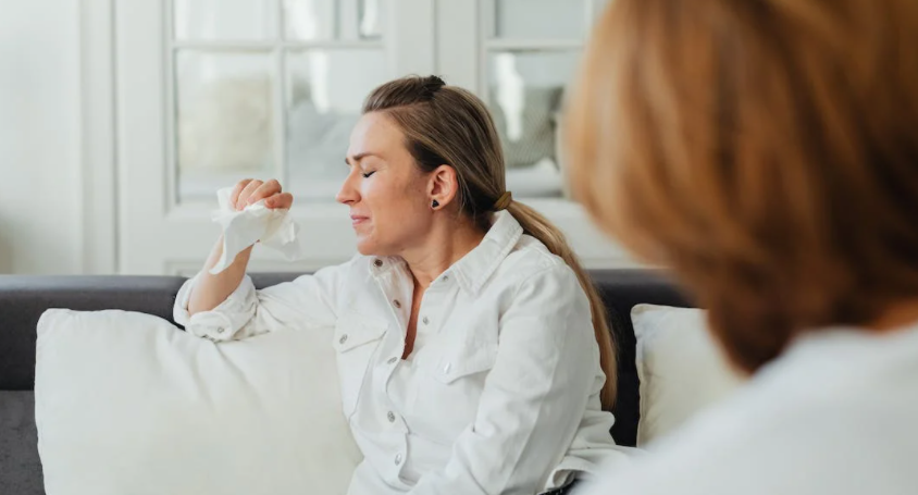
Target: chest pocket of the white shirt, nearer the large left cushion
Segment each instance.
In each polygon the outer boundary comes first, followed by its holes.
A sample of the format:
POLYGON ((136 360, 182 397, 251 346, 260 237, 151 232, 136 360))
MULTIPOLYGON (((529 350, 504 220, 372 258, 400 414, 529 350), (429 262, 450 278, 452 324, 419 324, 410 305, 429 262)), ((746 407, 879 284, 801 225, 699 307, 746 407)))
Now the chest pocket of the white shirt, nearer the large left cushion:
POLYGON ((367 370, 388 329, 385 320, 358 313, 343 313, 335 322, 334 348, 337 354, 342 409, 350 418, 357 408, 367 370))

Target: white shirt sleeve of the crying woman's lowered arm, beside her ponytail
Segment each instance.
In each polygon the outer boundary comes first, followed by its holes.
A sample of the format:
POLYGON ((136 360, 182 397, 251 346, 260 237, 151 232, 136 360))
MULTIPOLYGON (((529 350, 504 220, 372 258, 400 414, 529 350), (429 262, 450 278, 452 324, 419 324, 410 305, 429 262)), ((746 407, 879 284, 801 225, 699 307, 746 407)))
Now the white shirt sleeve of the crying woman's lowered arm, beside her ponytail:
POLYGON ((518 286, 475 421, 412 495, 534 494, 563 458, 599 371, 588 300, 556 265, 518 286))

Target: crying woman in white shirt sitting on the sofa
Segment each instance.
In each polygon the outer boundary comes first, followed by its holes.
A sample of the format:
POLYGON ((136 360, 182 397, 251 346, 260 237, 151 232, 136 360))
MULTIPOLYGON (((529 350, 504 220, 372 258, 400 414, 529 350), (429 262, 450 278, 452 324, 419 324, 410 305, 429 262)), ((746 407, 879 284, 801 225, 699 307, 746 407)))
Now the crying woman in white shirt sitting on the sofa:
MULTIPOLYGON (((561 233, 505 190, 484 104, 437 77, 385 84, 346 162, 337 200, 360 255, 255 290, 251 248, 208 273, 218 243, 177 297, 179 322, 214 339, 333 325, 365 457, 351 494, 535 494, 621 455, 603 409, 616 385, 603 302, 561 233)), ((293 201, 276 181, 233 199, 293 201)))

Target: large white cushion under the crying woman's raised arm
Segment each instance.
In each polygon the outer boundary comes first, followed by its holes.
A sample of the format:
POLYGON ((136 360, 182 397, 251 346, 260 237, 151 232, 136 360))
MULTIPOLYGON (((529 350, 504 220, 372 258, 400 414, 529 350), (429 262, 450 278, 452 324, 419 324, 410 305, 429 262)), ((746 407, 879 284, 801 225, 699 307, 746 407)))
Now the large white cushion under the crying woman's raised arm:
POLYGON ((332 332, 215 344, 148 314, 47 311, 35 417, 48 495, 344 494, 361 456, 332 332))

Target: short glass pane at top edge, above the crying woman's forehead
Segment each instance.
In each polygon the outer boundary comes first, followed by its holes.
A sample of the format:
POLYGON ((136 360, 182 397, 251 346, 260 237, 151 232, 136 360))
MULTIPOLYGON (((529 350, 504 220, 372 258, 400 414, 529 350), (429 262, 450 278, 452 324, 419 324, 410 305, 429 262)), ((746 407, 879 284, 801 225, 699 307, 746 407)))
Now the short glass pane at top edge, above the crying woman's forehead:
POLYGON ((384 0, 284 0, 288 39, 374 39, 382 36, 384 0))

